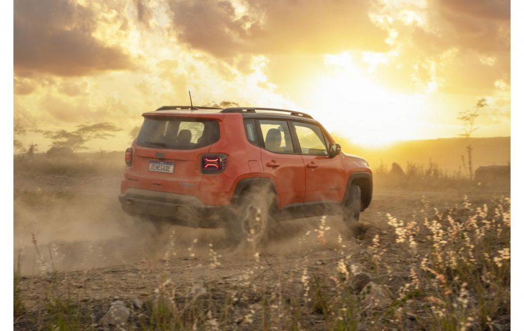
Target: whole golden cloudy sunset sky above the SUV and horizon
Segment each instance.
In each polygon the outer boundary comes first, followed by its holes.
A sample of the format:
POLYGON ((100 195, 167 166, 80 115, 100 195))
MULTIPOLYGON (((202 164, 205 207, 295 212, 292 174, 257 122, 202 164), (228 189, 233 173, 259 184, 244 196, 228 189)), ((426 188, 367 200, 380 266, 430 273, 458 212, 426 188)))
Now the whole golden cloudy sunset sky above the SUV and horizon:
MULTIPOLYGON (((510 135, 509 0, 16 0, 14 116, 28 130, 235 101, 309 112, 363 146, 510 135)), ((27 131, 25 144, 50 141, 27 131)))

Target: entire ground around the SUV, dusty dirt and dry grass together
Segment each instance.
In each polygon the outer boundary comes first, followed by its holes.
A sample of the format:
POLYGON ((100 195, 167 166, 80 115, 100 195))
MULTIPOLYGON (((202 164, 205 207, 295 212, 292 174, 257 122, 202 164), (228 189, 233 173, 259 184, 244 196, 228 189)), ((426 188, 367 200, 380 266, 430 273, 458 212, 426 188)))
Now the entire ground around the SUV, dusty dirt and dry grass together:
POLYGON ((136 230, 114 207, 120 158, 15 159, 15 329, 509 329, 508 188, 415 166, 417 190, 379 186, 356 238, 337 217, 297 220, 232 250, 221 230, 136 230), (92 222, 85 209, 108 237, 62 238, 75 220, 60 215, 92 222))

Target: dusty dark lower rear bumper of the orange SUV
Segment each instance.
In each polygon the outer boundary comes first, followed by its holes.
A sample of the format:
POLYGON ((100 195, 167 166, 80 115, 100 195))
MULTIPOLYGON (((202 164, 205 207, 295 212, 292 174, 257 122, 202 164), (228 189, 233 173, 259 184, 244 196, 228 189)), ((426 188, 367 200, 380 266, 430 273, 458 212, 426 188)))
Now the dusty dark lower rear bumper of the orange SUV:
POLYGON ((223 227, 229 206, 205 206, 195 196, 129 188, 118 200, 129 215, 148 216, 190 227, 223 227))

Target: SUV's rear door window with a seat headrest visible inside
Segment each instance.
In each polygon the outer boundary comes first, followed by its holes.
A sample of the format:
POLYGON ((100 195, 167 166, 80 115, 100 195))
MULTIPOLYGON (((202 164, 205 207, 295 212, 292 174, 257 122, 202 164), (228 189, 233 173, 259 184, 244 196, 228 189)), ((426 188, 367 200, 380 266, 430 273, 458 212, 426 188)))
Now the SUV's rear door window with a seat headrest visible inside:
POLYGON ((293 143, 286 121, 259 120, 266 150, 293 154, 293 143))

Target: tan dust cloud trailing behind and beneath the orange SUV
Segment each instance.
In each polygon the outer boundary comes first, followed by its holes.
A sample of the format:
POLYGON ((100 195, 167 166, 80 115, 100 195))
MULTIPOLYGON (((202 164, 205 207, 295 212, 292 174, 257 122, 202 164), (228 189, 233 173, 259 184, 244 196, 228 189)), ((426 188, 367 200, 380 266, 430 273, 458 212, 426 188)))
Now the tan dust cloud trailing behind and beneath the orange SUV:
MULTIPOLYGON (((62 181, 59 177, 42 184, 15 178, 14 261, 21 275, 166 258, 205 263, 210 247, 226 261, 246 256, 242 247, 226 241, 222 229, 155 226, 127 215, 117 199, 118 179, 62 181)), ((341 238, 350 245, 345 240, 350 235, 340 216, 285 221, 271 228, 259 252, 302 255, 315 248, 340 247, 341 238)))

